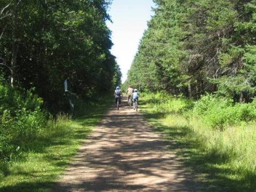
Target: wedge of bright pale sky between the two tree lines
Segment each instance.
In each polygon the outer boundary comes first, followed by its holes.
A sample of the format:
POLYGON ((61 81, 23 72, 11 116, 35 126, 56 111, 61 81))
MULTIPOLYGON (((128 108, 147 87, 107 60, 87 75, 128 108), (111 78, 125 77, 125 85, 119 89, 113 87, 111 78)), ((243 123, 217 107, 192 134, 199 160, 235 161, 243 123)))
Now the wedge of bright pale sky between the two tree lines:
POLYGON ((154 7, 152 0, 113 0, 108 11, 113 21, 107 22, 114 43, 111 53, 121 68, 122 82, 127 78, 140 39, 147 29, 147 21, 153 15, 151 7, 154 7))

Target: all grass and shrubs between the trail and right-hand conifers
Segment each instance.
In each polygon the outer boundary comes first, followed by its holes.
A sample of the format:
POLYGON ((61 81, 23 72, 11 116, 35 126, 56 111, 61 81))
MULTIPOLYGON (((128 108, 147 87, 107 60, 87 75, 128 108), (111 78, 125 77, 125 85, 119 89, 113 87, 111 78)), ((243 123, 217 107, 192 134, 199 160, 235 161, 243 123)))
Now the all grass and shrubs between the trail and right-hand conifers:
POLYGON ((191 166, 205 169, 205 174, 212 172, 219 183, 238 191, 256 189, 255 101, 234 103, 210 94, 197 101, 166 93, 156 95, 142 94, 145 114, 157 122, 167 137, 179 143, 178 149, 185 146, 182 150, 189 151, 187 162, 191 166), (150 102, 149 98, 155 101, 150 102), (195 165, 198 159, 195 161, 193 156, 205 159, 204 164, 195 165))

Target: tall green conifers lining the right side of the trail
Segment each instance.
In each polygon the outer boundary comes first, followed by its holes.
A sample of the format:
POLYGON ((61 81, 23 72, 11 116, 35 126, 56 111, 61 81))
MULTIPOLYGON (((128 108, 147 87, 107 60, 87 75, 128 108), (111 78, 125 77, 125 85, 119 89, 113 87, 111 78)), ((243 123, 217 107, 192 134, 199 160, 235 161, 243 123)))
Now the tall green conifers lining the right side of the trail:
POLYGON ((190 98, 255 96, 255 0, 155 3, 125 84, 190 98))

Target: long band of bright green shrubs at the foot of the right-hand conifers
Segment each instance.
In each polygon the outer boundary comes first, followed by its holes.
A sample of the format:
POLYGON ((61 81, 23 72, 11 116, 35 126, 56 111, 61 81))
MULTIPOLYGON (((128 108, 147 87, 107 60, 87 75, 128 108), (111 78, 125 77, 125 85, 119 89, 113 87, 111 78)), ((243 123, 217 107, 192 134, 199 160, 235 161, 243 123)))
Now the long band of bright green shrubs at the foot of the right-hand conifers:
POLYGON ((164 92, 143 93, 143 102, 157 114, 182 114, 188 119, 198 118, 213 130, 223 130, 231 125, 243 124, 256 118, 256 101, 234 103, 231 99, 206 94, 197 101, 173 97, 164 92))

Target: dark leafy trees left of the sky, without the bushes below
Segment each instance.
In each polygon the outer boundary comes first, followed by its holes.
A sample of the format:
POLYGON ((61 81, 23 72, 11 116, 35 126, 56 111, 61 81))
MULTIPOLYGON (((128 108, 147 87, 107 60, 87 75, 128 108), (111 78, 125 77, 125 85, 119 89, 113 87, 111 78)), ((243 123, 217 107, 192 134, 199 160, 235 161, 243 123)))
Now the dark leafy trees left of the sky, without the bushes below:
POLYGON ((120 82, 110 54, 108 0, 0 1, 0 74, 13 87, 33 88, 58 110, 63 82, 83 98, 120 82))

